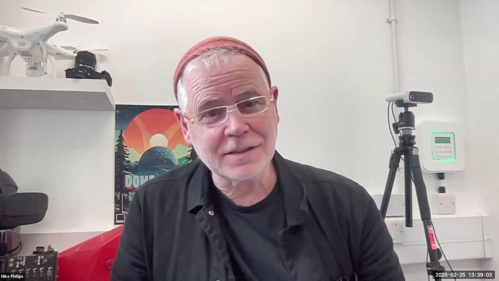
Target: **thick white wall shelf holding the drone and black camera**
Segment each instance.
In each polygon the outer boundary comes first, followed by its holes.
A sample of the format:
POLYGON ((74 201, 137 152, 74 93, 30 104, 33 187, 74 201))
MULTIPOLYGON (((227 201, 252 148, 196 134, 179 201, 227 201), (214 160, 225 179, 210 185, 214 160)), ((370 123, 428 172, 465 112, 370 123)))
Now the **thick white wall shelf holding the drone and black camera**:
POLYGON ((0 108, 114 110, 103 79, 0 76, 0 108))

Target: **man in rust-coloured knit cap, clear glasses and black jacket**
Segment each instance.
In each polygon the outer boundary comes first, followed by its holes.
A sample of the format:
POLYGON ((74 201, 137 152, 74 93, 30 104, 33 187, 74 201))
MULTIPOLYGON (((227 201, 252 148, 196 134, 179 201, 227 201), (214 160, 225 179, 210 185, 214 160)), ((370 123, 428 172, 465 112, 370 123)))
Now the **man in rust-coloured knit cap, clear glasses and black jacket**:
POLYGON ((254 49, 199 42, 174 92, 199 159, 137 191, 112 280, 404 280, 366 190, 275 151, 278 90, 254 49))

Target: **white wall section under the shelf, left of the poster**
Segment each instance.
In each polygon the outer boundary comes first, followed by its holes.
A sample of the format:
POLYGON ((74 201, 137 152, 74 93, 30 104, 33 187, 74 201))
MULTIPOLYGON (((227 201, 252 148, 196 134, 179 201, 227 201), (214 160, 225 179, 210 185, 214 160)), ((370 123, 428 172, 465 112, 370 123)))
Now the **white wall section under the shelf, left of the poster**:
POLYGON ((113 227, 114 112, 0 109, 0 165, 19 192, 44 192, 48 209, 21 233, 113 227))

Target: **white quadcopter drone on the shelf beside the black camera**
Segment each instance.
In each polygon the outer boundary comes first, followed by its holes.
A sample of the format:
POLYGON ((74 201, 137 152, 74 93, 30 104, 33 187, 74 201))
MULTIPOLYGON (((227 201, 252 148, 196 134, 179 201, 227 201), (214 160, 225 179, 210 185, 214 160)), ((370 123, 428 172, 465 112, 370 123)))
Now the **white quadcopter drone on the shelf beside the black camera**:
MULTIPOLYGON (((25 10, 45 13, 42 11, 22 7, 25 10)), ((34 28, 19 29, 0 25, 0 56, 7 56, 5 70, 8 75, 10 63, 16 55, 19 55, 26 62, 26 76, 40 77, 47 74, 47 54, 54 55, 55 58, 71 59, 80 50, 79 47, 57 46, 47 43, 47 40, 60 31, 68 29, 66 18, 81 21, 84 23, 98 24, 99 22, 74 14, 59 13, 52 25, 34 28), (68 50, 73 50, 68 51, 68 50)), ((107 50, 107 49, 93 49, 107 50)), ((53 64, 53 62, 52 62, 53 64)))

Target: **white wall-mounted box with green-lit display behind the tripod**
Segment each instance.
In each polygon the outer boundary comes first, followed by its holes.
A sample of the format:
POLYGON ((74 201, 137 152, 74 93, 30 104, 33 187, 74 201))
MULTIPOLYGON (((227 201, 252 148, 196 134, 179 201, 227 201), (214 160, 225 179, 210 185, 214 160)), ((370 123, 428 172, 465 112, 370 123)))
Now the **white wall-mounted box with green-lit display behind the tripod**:
POLYGON ((457 122, 421 121, 416 146, 426 172, 456 172, 465 166, 464 141, 457 122))

